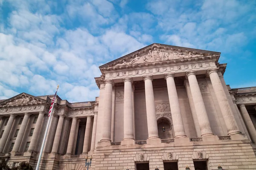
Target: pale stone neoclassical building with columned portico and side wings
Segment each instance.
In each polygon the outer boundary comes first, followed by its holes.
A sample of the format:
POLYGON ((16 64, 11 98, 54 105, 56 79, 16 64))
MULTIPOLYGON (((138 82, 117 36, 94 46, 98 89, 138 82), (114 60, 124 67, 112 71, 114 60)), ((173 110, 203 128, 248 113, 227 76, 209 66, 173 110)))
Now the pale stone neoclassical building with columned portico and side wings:
MULTIPOLYGON (((100 95, 57 97, 41 170, 256 169, 256 87, 231 89, 219 52, 152 44, 99 67, 100 95)), ((35 168, 53 95, 0 100, 0 157, 35 168)))

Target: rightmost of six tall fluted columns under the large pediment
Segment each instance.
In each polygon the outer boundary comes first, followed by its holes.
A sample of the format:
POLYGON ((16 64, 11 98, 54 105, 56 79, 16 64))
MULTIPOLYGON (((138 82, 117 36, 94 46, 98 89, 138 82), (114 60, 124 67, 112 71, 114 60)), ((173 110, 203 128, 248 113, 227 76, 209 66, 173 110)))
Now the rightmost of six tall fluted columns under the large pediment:
POLYGON ((234 118, 230 104, 228 103, 227 96, 225 94, 224 88, 221 84, 221 80, 218 76, 217 71, 218 71, 217 69, 209 70, 208 74, 211 79, 212 88, 216 94, 218 104, 221 108, 222 116, 227 126, 227 134, 233 135, 233 134, 241 133, 239 132, 238 126, 236 124, 236 120, 234 118))

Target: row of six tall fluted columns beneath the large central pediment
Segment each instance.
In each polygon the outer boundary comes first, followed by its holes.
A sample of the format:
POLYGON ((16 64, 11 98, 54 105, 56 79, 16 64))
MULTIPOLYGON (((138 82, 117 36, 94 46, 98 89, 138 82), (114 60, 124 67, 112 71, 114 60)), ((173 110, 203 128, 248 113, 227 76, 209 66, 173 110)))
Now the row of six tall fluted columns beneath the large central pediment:
MULTIPOLYGON (((218 76, 218 70, 212 69, 207 73, 211 79, 213 89, 215 91, 218 104, 221 108, 221 113, 225 119, 227 126, 227 135, 241 133, 236 124, 233 112, 228 103, 224 88, 218 76)), ((166 74, 168 96, 170 108, 172 113, 173 127, 175 138, 186 137, 180 106, 178 102, 177 90, 174 81, 174 74, 166 74)), ((198 117, 198 123, 201 130, 201 136, 213 135, 210 127, 207 111, 204 105, 203 97, 198 85, 196 73, 194 71, 186 72, 186 78, 189 81, 190 90, 192 93, 192 100, 195 105, 195 112, 198 117)), ((145 98, 146 98, 146 115, 148 124, 148 139, 159 138, 157 130, 157 119, 154 106, 154 91, 153 91, 153 77, 143 77, 145 83, 145 98)), ((133 118, 133 100, 132 100, 132 79, 125 78, 124 80, 124 140, 134 139, 134 118, 133 118)), ((105 81, 105 107, 104 107, 104 124, 102 130, 101 141, 111 141, 111 111, 112 111, 112 86, 113 80, 105 81)))

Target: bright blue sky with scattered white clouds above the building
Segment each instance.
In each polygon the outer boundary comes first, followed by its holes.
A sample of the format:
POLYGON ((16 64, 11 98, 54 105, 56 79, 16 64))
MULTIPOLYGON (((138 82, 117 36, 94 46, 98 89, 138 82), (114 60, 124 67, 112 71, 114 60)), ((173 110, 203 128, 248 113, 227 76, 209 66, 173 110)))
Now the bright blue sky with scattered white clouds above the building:
POLYGON ((99 66, 151 43, 221 52, 231 88, 256 86, 255 0, 0 0, 0 99, 95 100, 99 66))

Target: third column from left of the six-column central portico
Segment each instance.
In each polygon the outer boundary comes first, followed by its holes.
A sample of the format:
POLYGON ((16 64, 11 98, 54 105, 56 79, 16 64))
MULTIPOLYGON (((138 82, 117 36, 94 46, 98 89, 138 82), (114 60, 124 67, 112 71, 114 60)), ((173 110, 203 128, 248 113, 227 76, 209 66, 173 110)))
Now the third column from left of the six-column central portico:
POLYGON ((147 122, 148 122, 148 139, 159 138, 158 129, 157 129, 156 110, 154 105, 154 91, 153 91, 152 80, 153 78, 151 76, 144 77, 146 113, 147 113, 147 122))

